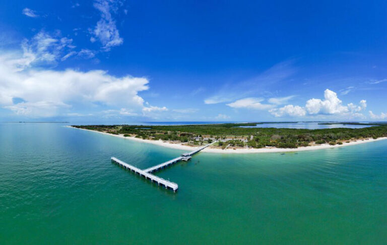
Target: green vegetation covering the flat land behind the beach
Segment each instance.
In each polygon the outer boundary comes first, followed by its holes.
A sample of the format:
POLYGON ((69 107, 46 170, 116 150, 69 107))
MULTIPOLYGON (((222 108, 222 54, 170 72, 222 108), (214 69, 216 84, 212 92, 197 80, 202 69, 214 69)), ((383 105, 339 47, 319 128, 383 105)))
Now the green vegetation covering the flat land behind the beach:
POLYGON ((380 124, 362 129, 277 129, 244 128, 249 124, 213 124, 181 126, 130 126, 130 125, 90 125, 73 126, 75 128, 95 130, 110 134, 120 134, 141 139, 183 142, 188 145, 203 145, 215 140, 217 145, 231 147, 278 147, 297 148, 312 144, 343 144, 365 138, 387 137, 387 125, 380 124))

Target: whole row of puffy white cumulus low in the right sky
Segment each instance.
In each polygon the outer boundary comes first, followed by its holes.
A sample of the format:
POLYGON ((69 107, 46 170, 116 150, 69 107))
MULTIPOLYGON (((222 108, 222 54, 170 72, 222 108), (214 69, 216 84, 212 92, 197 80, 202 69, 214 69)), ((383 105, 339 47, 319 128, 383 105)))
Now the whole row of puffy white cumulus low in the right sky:
POLYGON ((329 89, 324 91, 324 100, 309 99, 305 107, 286 105, 281 108, 269 110, 274 116, 305 116, 305 115, 339 115, 350 117, 364 117, 360 112, 367 107, 367 101, 361 100, 359 105, 349 103, 343 105, 343 102, 337 97, 337 94, 329 89))

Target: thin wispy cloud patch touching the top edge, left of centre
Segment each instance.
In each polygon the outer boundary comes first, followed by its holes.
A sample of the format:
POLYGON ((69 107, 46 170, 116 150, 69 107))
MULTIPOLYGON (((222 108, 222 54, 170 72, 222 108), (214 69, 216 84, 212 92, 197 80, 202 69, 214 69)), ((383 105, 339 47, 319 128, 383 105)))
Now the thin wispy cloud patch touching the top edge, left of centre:
POLYGON ((115 21, 111 15, 111 12, 116 11, 117 4, 119 3, 116 1, 107 0, 97 0, 94 2, 94 8, 101 12, 101 19, 97 22, 94 29, 90 30, 94 35, 90 41, 95 42, 98 39, 103 45, 102 49, 105 51, 123 43, 123 39, 119 36, 115 21))

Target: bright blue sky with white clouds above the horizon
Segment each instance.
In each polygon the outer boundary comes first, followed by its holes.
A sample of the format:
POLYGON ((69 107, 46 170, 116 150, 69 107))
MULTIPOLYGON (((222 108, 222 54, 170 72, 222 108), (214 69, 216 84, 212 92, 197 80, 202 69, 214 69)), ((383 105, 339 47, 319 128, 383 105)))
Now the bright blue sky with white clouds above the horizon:
POLYGON ((386 1, 0 4, 0 121, 387 120, 386 1))

